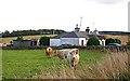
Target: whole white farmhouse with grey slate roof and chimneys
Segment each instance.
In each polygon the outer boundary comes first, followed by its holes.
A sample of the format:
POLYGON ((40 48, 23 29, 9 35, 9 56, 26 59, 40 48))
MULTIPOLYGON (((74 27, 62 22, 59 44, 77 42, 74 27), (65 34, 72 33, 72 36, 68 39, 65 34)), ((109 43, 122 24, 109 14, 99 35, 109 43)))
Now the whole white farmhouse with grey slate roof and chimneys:
POLYGON ((77 25, 74 31, 64 32, 51 38, 50 46, 60 46, 62 44, 87 45, 89 38, 93 36, 98 37, 101 45, 105 45, 105 40, 103 39, 104 36, 99 35, 96 29, 92 32, 89 27, 87 27, 86 31, 80 31, 80 28, 78 28, 77 25))

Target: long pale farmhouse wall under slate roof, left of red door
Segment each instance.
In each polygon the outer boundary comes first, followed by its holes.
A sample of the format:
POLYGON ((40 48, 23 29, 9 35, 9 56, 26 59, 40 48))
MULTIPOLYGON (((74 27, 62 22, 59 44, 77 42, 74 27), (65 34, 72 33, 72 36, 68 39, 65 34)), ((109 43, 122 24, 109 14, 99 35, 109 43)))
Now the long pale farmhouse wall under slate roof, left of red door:
POLYGON ((61 38, 61 44, 79 45, 79 38, 61 38))

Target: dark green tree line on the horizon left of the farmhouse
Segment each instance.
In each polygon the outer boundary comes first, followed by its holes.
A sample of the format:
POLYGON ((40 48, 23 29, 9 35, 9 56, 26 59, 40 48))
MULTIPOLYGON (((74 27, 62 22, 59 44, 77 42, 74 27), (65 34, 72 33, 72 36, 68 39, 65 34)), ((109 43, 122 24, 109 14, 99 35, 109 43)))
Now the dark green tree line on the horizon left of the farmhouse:
POLYGON ((35 36, 35 35, 60 35, 62 32, 65 32, 65 30, 60 29, 39 29, 39 30, 13 30, 12 32, 5 30, 2 33, 2 38, 5 37, 18 37, 18 36, 35 36))

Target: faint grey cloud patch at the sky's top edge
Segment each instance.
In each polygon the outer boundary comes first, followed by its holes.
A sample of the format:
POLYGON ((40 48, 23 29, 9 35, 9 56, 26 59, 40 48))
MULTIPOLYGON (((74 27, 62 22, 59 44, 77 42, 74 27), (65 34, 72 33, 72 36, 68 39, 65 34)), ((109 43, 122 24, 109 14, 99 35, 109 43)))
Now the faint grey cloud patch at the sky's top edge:
POLYGON ((115 4, 123 0, 88 0, 88 1, 94 1, 96 3, 103 3, 103 4, 115 4))

